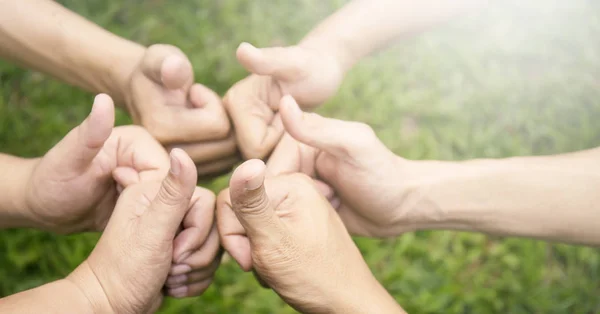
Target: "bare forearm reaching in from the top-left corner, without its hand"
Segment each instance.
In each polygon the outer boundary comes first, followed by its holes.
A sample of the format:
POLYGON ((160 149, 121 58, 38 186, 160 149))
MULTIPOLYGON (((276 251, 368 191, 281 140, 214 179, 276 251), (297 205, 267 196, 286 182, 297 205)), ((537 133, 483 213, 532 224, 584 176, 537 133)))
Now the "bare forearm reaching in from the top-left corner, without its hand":
POLYGON ((0 0, 0 57, 122 103, 144 48, 50 0, 0 0))

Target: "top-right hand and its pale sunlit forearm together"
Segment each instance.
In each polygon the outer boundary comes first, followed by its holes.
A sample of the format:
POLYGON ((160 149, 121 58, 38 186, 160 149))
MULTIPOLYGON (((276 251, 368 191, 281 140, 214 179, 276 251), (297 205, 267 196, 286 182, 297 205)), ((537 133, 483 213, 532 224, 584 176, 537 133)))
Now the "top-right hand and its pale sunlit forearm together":
POLYGON ((279 101, 320 106, 365 56, 399 38, 419 34, 483 0, 355 0, 327 17, 297 45, 257 49, 242 43, 237 58, 251 74, 223 100, 245 158, 266 158, 283 135, 279 101))

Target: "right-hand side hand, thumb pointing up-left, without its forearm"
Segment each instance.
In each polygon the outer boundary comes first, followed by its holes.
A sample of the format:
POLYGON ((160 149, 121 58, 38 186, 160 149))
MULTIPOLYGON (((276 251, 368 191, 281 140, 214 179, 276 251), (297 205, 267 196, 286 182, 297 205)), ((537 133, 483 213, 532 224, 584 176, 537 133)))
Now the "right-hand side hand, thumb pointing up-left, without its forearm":
POLYGON ((398 209, 405 200, 406 160, 389 151, 366 124, 303 113, 292 97, 281 100, 289 135, 267 164, 272 175, 302 172, 335 191, 332 205, 350 233, 387 237, 410 224, 398 209))

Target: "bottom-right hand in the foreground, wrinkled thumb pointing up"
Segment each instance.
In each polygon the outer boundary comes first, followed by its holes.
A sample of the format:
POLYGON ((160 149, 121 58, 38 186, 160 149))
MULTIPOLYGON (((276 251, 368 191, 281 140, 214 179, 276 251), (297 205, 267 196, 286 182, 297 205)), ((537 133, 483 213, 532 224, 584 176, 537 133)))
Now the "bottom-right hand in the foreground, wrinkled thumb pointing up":
POLYGON ((399 312, 312 180, 264 175, 262 161, 247 161, 219 195, 219 233, 240 266, 304 313, 399 312))

